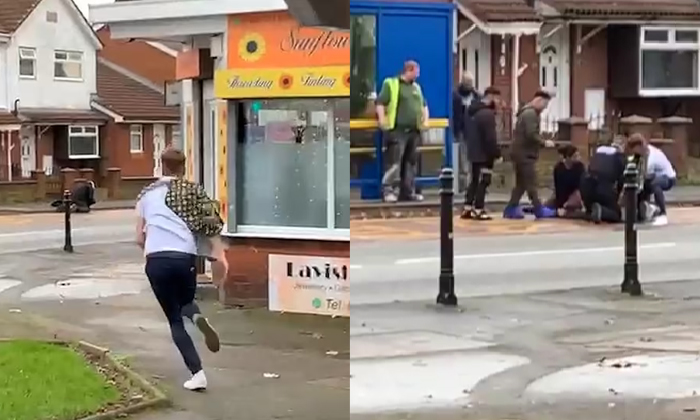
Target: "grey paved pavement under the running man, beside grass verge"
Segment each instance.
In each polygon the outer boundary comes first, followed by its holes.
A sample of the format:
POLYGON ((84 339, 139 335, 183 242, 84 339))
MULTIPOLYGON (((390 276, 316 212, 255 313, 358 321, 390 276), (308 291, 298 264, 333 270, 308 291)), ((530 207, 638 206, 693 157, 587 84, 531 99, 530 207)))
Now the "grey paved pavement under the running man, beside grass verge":
POLYGON ((135 419, 348 419, 347 319, 204 303, 223 348, 203 353, 210 391, 193 394, 181 388, 187 372, 142 264, 139 250, 130 244, 78 246, 73 255, 1 255, 0 337, 57 335, 129 356, 175 403, 173 410, 135 419), (268 379, 265 373, 279 378, 268 379))

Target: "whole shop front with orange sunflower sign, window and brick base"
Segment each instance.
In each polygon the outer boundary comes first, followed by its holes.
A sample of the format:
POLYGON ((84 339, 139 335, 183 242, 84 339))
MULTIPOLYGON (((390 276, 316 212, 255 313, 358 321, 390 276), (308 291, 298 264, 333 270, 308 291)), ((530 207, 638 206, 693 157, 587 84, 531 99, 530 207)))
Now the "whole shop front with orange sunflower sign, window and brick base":
POLYGON ((229 16, 214 76, 228 303, 349 314, 349 42, 286 11, 229 16))

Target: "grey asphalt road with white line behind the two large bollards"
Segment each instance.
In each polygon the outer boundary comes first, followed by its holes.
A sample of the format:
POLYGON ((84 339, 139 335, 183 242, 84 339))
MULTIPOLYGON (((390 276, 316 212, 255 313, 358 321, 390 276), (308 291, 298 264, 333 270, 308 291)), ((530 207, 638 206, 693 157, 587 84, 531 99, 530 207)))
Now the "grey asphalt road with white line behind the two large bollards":
MULTIPOLYGON (((643 283, 697 278, 700 224, 639 232, 643 283)), ((353 307, 432 300, 440 273, 437 240, 353 242, 353 307)), ((623 233, 474 235, 455 239, 461 297, 608 286, 622 280, 623 233)))

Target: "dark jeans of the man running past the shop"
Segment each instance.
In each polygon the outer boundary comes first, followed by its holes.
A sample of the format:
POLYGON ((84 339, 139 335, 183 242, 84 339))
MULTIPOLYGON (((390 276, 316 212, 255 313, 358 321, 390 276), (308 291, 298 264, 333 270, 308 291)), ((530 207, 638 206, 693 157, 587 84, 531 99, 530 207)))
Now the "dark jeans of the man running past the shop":
POLYGON ((185 330, 183 316, 194 321, 199 307, 194 302, 197 290, 196 256, 180 252, 158 252, 146 257, 146 276, 153 293, 170 324, 173 341, 190 372, 202 370, 192 337, 185 330))

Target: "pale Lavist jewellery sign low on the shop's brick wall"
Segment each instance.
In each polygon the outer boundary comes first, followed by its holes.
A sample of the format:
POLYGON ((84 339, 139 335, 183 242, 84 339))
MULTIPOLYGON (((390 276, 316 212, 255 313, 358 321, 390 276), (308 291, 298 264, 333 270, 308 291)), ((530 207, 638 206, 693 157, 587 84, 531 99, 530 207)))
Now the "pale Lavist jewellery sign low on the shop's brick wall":
POLYGON ((350 259, 270 254, 269 309, 350 316, 350 259))

